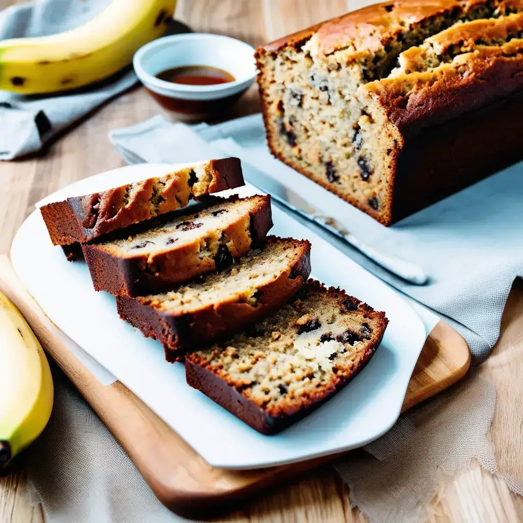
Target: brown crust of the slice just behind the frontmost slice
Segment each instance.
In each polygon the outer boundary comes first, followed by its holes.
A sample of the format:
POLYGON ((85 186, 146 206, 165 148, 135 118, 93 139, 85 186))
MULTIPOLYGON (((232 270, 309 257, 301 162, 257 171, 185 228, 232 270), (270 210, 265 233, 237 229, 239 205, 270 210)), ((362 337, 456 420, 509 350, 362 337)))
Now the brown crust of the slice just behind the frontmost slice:
POLYGON ((139 328, 143 335, 157 339, 165 349, 165 359, 173 362, 183 359, 190 348, 221 334, 241 329, 286 303, 303 285, 311 272, 310 243, 306 240, 267 237, 265 245, 291 241, 299 254, 289 267, 273 281, 257 289, 255 304, 242 301, 242 296, 229 297, 221 302, 183 313, 162 310, 154 300, 117 297, 116 304, 122 320, 139 328))

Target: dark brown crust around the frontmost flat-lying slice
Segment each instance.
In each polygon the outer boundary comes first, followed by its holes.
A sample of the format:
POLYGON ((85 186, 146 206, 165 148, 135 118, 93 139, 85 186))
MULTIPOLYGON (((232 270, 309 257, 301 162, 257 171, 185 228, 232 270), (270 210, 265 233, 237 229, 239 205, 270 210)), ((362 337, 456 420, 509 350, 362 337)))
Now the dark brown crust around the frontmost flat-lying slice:
POLYGON ((196 352, 186 355, 185 358, 186 379, 189 385, 202 391, 213 401, 263 434, 275 434, 297 422, 346 386, 368 363, 381 343, 388 324, 384 313, 374 311, 366 303, 349 297, 339 288, 325 288, 322 283, 311 279, 305 284, 304 289, 325 293, 345 307, 347 307, 347 303, 350 303, 350 310, 364 313, 366 318, 373 320, 374 326, 368 343, 354 354, 353 365, 347 368, 337 368, 336 372, 331 374, 331 379, 314 392, 309 391, 299 397, 293 396, 292 399, 267 406, 251 394, 251 389, 245 386, 243 381, 235 381, 222 366, 211 363, 214 353, 203 356, 196 352))

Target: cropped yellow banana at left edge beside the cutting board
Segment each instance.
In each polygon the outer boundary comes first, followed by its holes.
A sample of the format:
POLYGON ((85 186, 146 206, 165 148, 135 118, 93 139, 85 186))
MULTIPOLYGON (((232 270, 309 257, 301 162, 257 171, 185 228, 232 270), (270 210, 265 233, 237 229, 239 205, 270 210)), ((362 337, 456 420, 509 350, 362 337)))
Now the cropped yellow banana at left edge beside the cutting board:
POLYGON ((0 292, 0 469, 37 438, 53 406, 53 380, 42 346, 0 292))

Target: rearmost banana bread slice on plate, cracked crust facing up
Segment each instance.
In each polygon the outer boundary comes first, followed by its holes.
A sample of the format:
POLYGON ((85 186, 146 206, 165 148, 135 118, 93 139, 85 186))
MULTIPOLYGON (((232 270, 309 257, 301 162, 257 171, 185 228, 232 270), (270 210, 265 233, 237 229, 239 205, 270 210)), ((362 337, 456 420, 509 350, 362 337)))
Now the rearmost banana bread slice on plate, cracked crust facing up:
MULTIPOLYGON (((165 176, 49 203, 40 212, 53 245, 69 246, 185 207, 191 198, 241 185, 240 160, 221 158, 165 176)), ((64 251, 74 256, 74 249, 64 251)))

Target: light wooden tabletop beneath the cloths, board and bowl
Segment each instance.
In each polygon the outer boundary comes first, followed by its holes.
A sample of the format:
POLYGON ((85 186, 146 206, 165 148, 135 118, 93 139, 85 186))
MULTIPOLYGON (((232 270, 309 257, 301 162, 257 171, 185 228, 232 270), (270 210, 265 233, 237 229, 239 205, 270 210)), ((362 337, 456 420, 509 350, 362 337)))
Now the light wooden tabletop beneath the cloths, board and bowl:
MULTIPOLYGON (((0 0, 0 8, 15 0, 0 0)), ((176 18, 199 32, 233 36, 257 46, 349 10, 372 3, 365 0, 179 0, 176 18)), ((259 111, 253 87, 228 118, 259 111)), ((140 122, 164 111, 144 92, 133 89, 95 111, 36 157, 0 162, 0 253, 34 204, 71 182, 118 167, 107 132, 140 122)), ((482 377, 497 388, 497 405, 490 439, 502 473, 523 482, 523 283, 517 281, 503 317, 502 332, 491 357, 480 368, 482 377)), ((23 462, 23 460, 22 460, 23 462)), ((25 488, 23 466, 0 477, 0 522, 42 521, 25 488)), ((430 521, 523 521, 523 499, 508 490, 504 480, 477 463, 458 473, 429 508, 430 521)), ((366 521, 350 508, 350 494, 328 465, 292 483, 246 501, 223 521, 366 521)))

